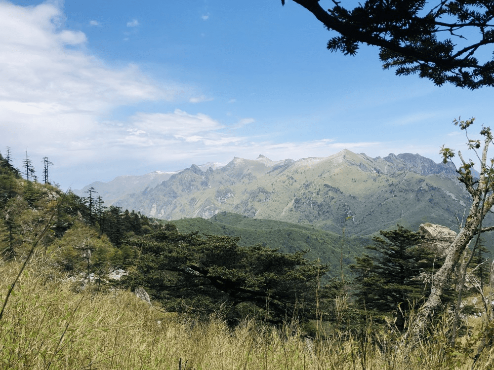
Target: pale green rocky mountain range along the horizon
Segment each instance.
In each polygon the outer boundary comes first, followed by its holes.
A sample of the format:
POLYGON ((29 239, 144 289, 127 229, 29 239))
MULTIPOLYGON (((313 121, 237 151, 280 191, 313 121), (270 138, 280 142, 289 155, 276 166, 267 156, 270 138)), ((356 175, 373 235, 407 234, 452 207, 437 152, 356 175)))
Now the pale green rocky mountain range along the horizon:
POLYGON ((450 164, 418 154, 371 158, 343 150, 297 161, 260 155, 235 157, 220 168, 192 165, 114 204, 165 220, 226 211, 369 235, 397 222, 411 229, 422 222, 452 227, 469 202, 450 164))

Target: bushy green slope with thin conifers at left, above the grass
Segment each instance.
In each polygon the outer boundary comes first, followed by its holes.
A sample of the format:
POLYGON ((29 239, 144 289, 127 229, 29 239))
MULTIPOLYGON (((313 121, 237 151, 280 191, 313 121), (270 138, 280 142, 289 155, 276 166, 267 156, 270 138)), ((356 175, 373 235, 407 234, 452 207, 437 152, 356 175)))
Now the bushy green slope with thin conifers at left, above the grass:
MULTIPOLYGON (((44 160, 45 166, 49 165, 44 160)), ((28 156, 25 165, 33 178, 28 156)), ((45 180, 46 177, 45 167, 45 180)), ((1 259, 25 258, 54 212, 53 224, 39 240, 43 252, 53 254, 62 271, 73 276, 83 274, 85 279, 94 274, 101 284, 111 269, 128 266, 135 260, 136 250, 123 245, 124 239, 142 236, 153 228, 148 218, 133 211, 102 208, 101 199, 95 199, 93 194, 88 201, 69 191, 59 204, 63 195, 60 189, 22 179, 1 155, 0 180, 1 259)))

